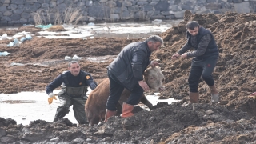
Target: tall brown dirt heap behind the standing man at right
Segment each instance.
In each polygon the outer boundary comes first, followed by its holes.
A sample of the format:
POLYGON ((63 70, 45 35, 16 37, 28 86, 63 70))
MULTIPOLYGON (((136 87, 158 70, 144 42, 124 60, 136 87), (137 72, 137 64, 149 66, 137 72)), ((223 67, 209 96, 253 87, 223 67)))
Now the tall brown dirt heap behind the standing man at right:
MULTIPOLYGON (((227 13, 190 14, 186 11, 185 21, 162 34, 166 46, 155 56, 162 60, 166 76, 166 92, 177 99, 188 96, 188 74, 191 59, 170 60, 186 43, 186 23, 197 21, 214 34, 220 51, 220 58, 214 70, 214 80, 221 95, 220 104, 229 109, 242 109, 256 116, 256 99, 248 97, 256 91, 256 15, 227 13)), ((210 89, 206 82, 199 83, 200 102, 210 102, 210 89)))

